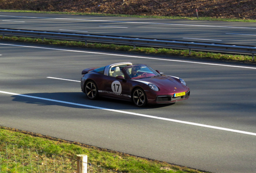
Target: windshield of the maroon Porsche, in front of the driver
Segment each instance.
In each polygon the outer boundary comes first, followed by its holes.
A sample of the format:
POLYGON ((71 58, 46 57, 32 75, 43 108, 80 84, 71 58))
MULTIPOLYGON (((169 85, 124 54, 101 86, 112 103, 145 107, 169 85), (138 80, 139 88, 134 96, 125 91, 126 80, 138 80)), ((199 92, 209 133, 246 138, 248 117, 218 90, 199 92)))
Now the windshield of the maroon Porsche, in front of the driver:
POLYGON ((159 73, 146 65, 128 67, 125 68, 124 71, 128 74, 128 76, 130 76, 131 79, 159 76, 159 73))

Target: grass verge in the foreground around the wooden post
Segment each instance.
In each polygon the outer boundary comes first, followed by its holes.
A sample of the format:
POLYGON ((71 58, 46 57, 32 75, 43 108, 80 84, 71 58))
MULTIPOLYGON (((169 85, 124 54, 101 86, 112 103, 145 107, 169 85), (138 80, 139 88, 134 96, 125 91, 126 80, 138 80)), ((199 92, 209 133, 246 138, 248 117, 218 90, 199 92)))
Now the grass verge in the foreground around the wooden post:
MULTIPOLYGON (((39 169, 39 165, 43 165, 44 169, 47 168, 49 171, 50 165, 54 165, 54 169, 56 167, 54 172, 70 172, 67 171, 66 167, 64 170, 64 167, 62 169, 62 166, 58 166, 57 160, 62 162, 60 156, 63 156, 62 158, 76 158, 76 155, 78 154, 86 154, 88 155, 88 163, 97 165, 98 167, 101 166, 110 169, 106 172, 111 172, 111 170, 114 170, 124 173, 202 173, 202 171, 198 171, 196 169, 172 165, 166 162, 140 158, 125 153, 84 145, 77 142, 65 141, 62 139, 56 139, 40 134, 29 133, 27 131, 19 131, 17 129, 0 126, 0 170, 5 172, 8 168, 8 171, 6 171, 8 173, 19 172, 19 170, 22 172, 22 167, 19 169, 17 168, 17 161, 21 159, 21 157, 26 157, 25 150, 28 150, 27 152, 29 152, 29 157, 26 159, 27 161, 18 163, 18 165, 23 165, 23 172, 24 170, 25 172, 38 172, 37 169, 39 169), (7 146, 7 143, 10 146, 7 146), (23 148, 17 146, 23 146, 23 148), (35 150, 37 152, 35 152, 35 150), (47 152, 47 154, 45 152, 47 152), (8 161, 6 159, 6 155, 8 155, 8 161), (13 155, 15 159, 11 159, 13 155), (32 157, 33 155, 36 158, 35 160, 32 157), (48 161, 47 164, 45 164, 45 160, 48 161), (35 166, 32 167, 33 163, 35 166)), ((68 159, 65 159, 65 161, 64 159, 62 160, 63 163, 65 162, 65 165, 68 165, 67 167, 76 167, 76 162, 72 161, 72 159, 71 161, 68 159)), ((76 172, 74 171, 76 168, 73 168, 72 170, 72 172, 76 172)), ((41 172, 45 172, 45 170, 41 170, 41 172)), ((94 170, 92 172, 97 171, 94 170)))

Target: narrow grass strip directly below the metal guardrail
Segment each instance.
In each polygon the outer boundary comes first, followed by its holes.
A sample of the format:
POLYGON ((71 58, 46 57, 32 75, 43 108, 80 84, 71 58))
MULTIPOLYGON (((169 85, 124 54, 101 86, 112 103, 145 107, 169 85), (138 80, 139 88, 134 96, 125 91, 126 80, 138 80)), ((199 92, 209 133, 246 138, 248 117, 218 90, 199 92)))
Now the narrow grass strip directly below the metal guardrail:
POLYGON ((186 56, 192 58, 203 58, 203 59, 213 59, 213 60, 225 60, 233 62, 246 62, 246 63, 256 63, 252 61, 252 56, 248 55, 237 55, 237 54, 221 54, 213 52, 196 52, 191 51, 189 54, 188 50, 181 49, 169 49, 169 48, 147 48, 147 47, 136 47, 127 46, 127 45, 116 45, 116 44, 101 44, 101 43, 87 43, 80 41, 67 41, 67 40, 52 40, 41 38, 27 38, 27 37, 17 37, 12 36, 8 37, 0 36, 0 40, 5 41, 17 41, 17 42, 28 42, 28 43, 38 43, 38 44, 49 44, 49 45, 58 45, 58 46, 70 46, 70 47, 79 47, 79 48, 95 48, 95 49, 105 49, 105 50, 119 50, 126 52, 139 52, 145 54, 159 54, 159 55, 172 55, 172 56, 186 56))

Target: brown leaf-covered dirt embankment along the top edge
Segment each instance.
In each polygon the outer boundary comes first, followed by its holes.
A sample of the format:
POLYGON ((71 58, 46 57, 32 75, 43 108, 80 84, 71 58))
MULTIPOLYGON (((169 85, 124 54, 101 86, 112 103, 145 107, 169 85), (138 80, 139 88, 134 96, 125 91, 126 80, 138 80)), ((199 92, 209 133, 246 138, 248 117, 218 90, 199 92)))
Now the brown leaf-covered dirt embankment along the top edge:
POLYGON ((1 0, 0 9, 256 19, 256 0, 1 0))

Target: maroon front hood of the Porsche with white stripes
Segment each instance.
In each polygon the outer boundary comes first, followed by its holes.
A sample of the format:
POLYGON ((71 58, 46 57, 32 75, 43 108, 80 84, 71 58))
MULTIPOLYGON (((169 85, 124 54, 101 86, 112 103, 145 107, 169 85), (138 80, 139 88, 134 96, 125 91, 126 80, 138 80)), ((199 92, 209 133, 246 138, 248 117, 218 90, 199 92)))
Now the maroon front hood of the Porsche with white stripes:
POLYGON ((148 83, 155 84, 157 87, 159 87, 160 90, 165 90, 165 91, 179 91, 179 90, 184 91, 184 88, 186 88, 184 85, 180 83, 179 78, 167 76, 167 75, 155 76, 152 78, 141 78, 136 80, 137 81, 139 80, 145 83, 148 82, 148 83))

